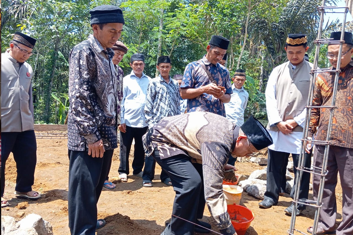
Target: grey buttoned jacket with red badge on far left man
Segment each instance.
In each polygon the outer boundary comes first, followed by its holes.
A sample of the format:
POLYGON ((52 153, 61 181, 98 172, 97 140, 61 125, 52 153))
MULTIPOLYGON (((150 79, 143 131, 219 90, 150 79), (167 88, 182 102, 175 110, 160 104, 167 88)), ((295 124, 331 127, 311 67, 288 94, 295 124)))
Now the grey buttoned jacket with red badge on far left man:
POLYGON ((1 54, 1 132, 34 129, 32 67, 1 54))

